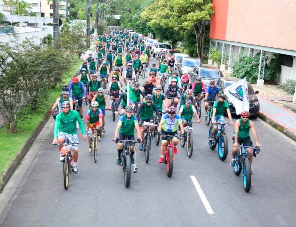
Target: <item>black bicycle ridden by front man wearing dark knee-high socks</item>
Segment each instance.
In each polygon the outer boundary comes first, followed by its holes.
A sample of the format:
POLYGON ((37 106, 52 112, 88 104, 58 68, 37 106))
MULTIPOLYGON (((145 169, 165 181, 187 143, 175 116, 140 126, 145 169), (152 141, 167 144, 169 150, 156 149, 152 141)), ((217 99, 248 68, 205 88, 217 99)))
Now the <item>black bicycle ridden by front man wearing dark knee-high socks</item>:
MULTIPOLYGON (((135 143, 137 143, 136 140, 119 140, 119 142, 123 142, 123 151, 120 155, 121 163, 122 163, 122 170, 124 173, 124 182, 125 186, 129 187, 131 183, 131 164, 133 164, 133 172, 137 172, 137 167, 135 164, 135 161, 131 162, 131 152, 130 152, 130 145, 129 142, 132 142, 132 146, 134 149, 135 143)), ((133 155, 134 160, 136 160, 136 152, 133 155)))

